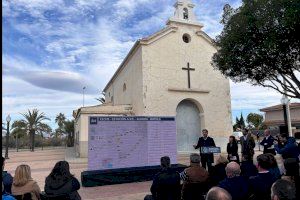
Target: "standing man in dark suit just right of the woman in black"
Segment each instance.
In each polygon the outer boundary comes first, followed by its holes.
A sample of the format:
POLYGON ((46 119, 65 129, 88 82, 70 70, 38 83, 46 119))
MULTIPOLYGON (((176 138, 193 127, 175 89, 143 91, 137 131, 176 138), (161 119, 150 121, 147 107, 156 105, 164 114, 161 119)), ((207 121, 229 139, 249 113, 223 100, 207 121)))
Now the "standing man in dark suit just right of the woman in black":
POLYGON ((242 146, 242 155, 247 155, 251 160, 254 155, 255 141, 248 129, 243 130, 243 137, 240 138, 242 146))

